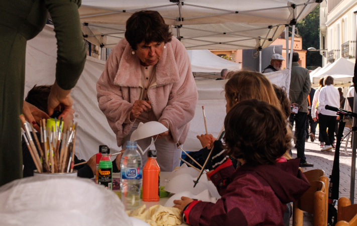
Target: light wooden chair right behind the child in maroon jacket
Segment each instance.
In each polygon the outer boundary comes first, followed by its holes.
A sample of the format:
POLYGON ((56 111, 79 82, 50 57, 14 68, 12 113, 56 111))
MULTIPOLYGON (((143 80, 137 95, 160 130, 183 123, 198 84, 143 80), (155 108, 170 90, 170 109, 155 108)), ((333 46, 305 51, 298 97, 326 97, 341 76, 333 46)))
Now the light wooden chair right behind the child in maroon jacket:
POLYGON ((311 187, 293 205, 293 225, 303 225, 303 211, 313 214, 313 225, 327 225, 325 183, 309 181, 311 187))

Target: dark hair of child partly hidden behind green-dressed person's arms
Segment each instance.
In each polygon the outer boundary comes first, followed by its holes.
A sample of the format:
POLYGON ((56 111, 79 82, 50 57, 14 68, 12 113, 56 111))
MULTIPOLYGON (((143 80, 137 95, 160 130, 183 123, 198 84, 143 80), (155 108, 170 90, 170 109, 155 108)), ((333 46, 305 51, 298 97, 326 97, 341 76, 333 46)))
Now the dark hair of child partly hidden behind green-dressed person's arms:
POLYGON ((27 93, 26 102, 31 103, 47 114, 47 101, 50 95, 52 85, 39 85, 34 87, 27 93))

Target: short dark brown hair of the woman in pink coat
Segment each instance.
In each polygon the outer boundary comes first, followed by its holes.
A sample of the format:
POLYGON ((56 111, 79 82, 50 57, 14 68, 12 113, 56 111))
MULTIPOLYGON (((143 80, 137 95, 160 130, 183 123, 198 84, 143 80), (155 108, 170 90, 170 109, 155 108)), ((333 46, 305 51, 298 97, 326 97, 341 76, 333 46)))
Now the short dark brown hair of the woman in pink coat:
POLYGON ((146 44, 151 42, 171 42, 172 33, 170 26, 165 24, 164 19, 157 11, 139 11, 134 13, 128 20, 125 38, 133 50, 142 41, 146 44))

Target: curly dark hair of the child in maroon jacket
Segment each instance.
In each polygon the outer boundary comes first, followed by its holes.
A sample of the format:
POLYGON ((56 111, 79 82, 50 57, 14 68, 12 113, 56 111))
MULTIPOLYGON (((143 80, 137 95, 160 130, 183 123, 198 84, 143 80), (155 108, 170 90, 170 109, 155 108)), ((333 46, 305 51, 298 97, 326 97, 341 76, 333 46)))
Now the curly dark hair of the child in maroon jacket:
POLYGON ((224 120, 225 148, 248 164, 274 164, 291 149, 291 131, 277 107, 257 99, 235 104, 224 120))

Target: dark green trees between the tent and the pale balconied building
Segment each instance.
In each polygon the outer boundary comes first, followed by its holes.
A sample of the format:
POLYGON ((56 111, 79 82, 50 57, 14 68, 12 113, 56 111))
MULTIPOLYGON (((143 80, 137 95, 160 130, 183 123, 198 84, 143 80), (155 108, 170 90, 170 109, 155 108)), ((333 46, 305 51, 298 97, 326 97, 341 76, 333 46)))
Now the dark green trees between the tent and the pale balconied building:
MULTIPOLYGON (((320 6, 317 6, 309 15, 302 19, 296 28, 302 38, 302 49, 307 50, 309 47, 320 49, 320 6)), ((322 66, 322 56, 319 52, 307 51, 306 67, 322 66)))

